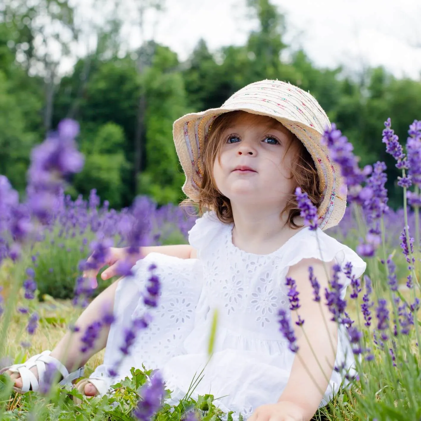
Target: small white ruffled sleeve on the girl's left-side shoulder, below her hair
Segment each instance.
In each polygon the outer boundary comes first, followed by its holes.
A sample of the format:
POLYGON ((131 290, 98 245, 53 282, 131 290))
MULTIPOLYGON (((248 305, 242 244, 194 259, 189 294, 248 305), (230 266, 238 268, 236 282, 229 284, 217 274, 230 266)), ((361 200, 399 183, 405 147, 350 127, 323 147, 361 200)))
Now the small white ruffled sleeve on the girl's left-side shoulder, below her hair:
POLYGON ((221 239, 221 234, 228 232, 231 224, 219 221, 216 213, 209 211, 197 218, 195 225, 189 231, 189 244, 197 250, 198 257, 203 257, 204 252, 216 247, 216 241, 221 239))

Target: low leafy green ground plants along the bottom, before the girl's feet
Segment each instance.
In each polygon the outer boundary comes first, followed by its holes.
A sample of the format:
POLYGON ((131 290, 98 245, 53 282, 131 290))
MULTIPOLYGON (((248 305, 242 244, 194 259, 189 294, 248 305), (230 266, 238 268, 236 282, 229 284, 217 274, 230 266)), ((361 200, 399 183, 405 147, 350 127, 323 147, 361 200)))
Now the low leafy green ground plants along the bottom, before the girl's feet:
MULTIPOLYGON (((87 398, 75 389, 66 387, 67 393, 57 386, 53 386, 48 396, 42 397, 38 393, 27 392, 19 400, 18 404, 8 401, 12 384, 4 374, 0 375, 0 417, 2 420, 75 420, 82 421, 95 419, 98 421, 133 420, 132 411, 136 408, 140 399, 141 387, 149 381, 152 370, 131 369, 131 378, 126 377, 123 381, 112 386, 113 392, 103 397, 87 398), (72 397, 82 400, 76 405, 72 397), (30 413, 30 415, 29 415, 30 413)), ((187 412, 194 412, 198 420, 217 421, 224 417, 224 413, 215 406, 214 397, 211 394, 198 396, 194 400, 186 395, 176 405, 168 403, 171 399, 171 391, 166 390, 162 408, 157 412, 155 421, 181 421, 187 412)), ((228 414, 232 417, 232 413, 228 414)), ((231 418, 232 419, 232 418, 231 418)))

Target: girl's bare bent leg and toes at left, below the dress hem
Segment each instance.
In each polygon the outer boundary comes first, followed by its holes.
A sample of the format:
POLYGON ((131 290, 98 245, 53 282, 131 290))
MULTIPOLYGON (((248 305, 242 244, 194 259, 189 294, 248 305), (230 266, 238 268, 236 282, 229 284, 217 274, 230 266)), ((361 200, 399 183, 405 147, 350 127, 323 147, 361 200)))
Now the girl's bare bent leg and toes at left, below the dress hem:
MULTIPOLYGON (((76 321, 76 326, 79 328, 79 331, 67 332, 51 351, 51 357, 59 360, 67 368, 69 373, 84 365, 89 360, 89 358, 103 349, 107 344, 109 327, 104 327, 101 329, 99 337, 94 343, 94 347, 92 349, 88 349, 87 352, 80 351, 82 347, 82 342, 80 339, 83 337, 88 326, 92 322, 101 319, 104 312, 110 310, 112 311, 114 306, 115 291, 119 281, 120 280, 113 282, 107 289, 102 291, 99 296, 97 296, 88 305, 88 307, 86 307, 86 309, 76 321)), ((31 371, 35 374, 35 376, 38 376, 36 367, 33 367, 31 371)), ((22 381, 19 373, 10 373, 8 371, 6 371, 6 373, 10 374, 12 379, 15 379, 16 387, 22 387, 22 381)), ((85 388, 85 390, 87 389, 86 392, 91 391, 92 387, 93 386, 91 384, 87 385, 85 388)), ((93 390, 96 389, 93 387, 93 390)))

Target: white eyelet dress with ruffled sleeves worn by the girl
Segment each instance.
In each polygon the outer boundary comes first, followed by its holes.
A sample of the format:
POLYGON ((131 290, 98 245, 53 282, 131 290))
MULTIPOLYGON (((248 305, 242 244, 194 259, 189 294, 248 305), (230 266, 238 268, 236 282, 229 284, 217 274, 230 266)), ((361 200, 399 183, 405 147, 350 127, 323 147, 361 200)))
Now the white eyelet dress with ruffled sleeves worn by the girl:
MULTIPOLYGON (((220 222, 212 212, 197 219, 189 242, 198 259, 179 259, 151 253, 136 264, 135 275, 120 281, 104 364, 91 377, 107 378, 121 354, 123 327, 145 311, 141 291, 151 263, 157 265, 162 294, 149 329, 140 333, 130 356, 125 357, 118 378, 129 375, 131 367, 160 368, 174 402, 184 397, 195 373, 208 361, 208 345, 214 311, 218 324, 213 357, 203 379, 192 394, 211 393, 216 405, 248 417, 260 405, 275 403, 285 388, 295 354, 279 331, 278 310, 288 310, 285 276, 290 266, 303 258, 333 259, 344 267, 352 263, 360 277, 365 263, 347 246, 320 229, 301 229, 281 248, 268 255, 246 253, 232 243, 232 224, 220 222), (320 245, 320 248, 319 248, 320 245), (320 253, 321 250, 321 253, 320 253)), ((345 296, 349 280, 341 277, 345 296)), ((310 286, 311 288, 311 286, 310 286)), ((346 330, 338 330, 335 365, 354 365, 346 330)), ((320 402, 325 405, 338 390, 342 378, 333 371, 320 402)))

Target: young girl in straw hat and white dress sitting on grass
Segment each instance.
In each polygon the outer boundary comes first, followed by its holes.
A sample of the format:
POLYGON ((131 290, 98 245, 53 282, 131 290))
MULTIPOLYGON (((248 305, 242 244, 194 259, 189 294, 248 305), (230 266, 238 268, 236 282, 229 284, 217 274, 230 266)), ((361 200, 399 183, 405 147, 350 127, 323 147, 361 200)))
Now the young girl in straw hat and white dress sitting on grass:
MULTIPOLYGON (((329 124, 309 93, 277 80, 252 83, 221 108, 177 120, 174 141, 186 175, 183 190, 201 213, 189 245, 142 249, 146 257, 137 261, 134 276, 111 285, 85 309, 77 321, 80 333, 68 333, 51 354, 9 370, 16 387, 36 390, 43 361, 56 362, 64 381, 75 378, 80 373, 68 376, 67 369, 88 360, 106 341, 104 364, 78 384, 87 395, 106 393, 143 363, 160 368, 178 400, 205 367, 193 396, 210 392, 222 410, 252 421, 309 420, 343 381, 333 367, 354 365, 346 330, 329 321, 326 306, 313 301, 309 266, 321 291, 328 287, 333 264, 344 268, 351 262, 356 277, 365 270, 351 249, 322 231, 338 224, 346 206, 343 179, 320 144, 329 124), (317 230, 304 226, 296 187, 317 206, 317 230), (145 311, 141 292, 151 264, 162 284, 159 305, 111 377, 125 328, 145 311), (280 309, 297 320, 289 311, 286 277, 296 280, 298 314, 305 321, 305 336, 295 328, 297 353, 288 348, 277 320, 280 309), (112 302, 116 322, 81 356, 84 328, 112 302), (216 340, 208 362, 215 311, 216 340)), ((122 255, 113 249, 109 263, 122 255)), ((340 276, 344 297, 349 280, 340 276)))

